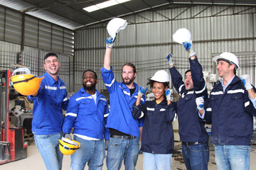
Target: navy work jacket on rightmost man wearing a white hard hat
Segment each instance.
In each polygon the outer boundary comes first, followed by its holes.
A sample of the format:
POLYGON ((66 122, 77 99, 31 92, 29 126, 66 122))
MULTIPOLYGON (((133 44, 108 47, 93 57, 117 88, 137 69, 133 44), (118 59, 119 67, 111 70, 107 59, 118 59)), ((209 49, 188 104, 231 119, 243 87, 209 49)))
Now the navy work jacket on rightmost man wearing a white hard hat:
POLYGON ((250 145, 252 115, 256 115, 256 109, 248 92, 237 76, 223 90, 222 84, 216 84, 205 102, 203 119, 212 123, 211 142, 215 145, 250 145))

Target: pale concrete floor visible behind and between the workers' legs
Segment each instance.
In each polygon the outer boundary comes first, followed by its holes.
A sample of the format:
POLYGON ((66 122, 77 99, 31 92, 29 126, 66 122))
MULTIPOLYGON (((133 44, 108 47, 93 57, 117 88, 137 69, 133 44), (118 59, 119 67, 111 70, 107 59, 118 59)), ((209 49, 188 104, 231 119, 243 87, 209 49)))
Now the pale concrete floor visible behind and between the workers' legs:
MULTIPOLYGON (((176 147, 181 148, 181 143, 176 142, 176 147)), ((180 149, 178 149, 180 150, 180 149)), ((142 159, 143 154, 139 154, 139 159, 137 162, 136 169, 141 170, 142 169, 142 159)), ((250 155, 250 169, 256 169, 256 145, 251 146, 251 155, 250 155)), ((185 170, 186 166, 181 161, 181 154, 175 154, 173 157, 173 160, 171 162, 171 169, 179 169, 179 170, 185 170)), ((43 164, 43 159, 41 159, 41 155, 38 152, 38 149, 36 148, 35 143, 33 142, 30 146, 28 146, 28 157, 26 159, 21 159, 16 162, 9 162, 6 164, 0 165, 0 169, 3 170, 44 170, 46 169, 43 164)), ((63 170, 70 169, 70 156, 64 156, 63 158, 63 170)), ((85 169, 88 169, 87 167, 85 169)), ((209 170, 215 170, 217 169, 215 162, 214 162, 214 151, 210 151, 210 161, 208 164, 209 170)), ((104 162, 103 170, 107 170, 106 164, 104 162)), ((124 166, 122 166, 121 170, 124 170, 124 166)))

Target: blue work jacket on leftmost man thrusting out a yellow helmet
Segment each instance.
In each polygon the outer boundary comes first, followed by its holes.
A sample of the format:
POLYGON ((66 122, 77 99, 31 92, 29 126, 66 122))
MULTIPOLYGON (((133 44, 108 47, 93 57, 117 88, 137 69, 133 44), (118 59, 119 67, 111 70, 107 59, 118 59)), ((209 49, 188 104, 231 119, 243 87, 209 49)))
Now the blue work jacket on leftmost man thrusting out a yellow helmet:
POLYGON ((46 72, 38 89, 38 95, 28 96, 33 101, 32 132, 35 135, 52 135, 61 132, 63 110, 68 107, 68 94, 64 82, 55 81, 46 72))

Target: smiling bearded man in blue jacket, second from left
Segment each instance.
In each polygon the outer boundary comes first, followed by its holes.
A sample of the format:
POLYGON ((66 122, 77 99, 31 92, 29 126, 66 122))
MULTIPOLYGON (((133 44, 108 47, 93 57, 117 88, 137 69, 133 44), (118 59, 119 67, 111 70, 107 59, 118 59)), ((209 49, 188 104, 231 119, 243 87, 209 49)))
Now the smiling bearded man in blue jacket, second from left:
POLYGON ((110 133, 105 128, 109 108, 107 99, 95 88, 96 72, 87 69, 82 74, 82 88, 71 96, 63 123, 65 137, 72 139, 70 131, 74 128, 74 140, 80 142, 80 148, 71 155, 71 169, 100 170, 105 158, 105 140, 110 133))

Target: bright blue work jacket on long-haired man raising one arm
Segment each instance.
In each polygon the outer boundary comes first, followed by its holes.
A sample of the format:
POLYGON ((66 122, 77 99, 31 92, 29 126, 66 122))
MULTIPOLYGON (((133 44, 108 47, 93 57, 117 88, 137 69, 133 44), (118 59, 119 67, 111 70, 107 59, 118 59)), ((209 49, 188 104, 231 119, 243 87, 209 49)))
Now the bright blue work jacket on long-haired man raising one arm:
MULTIPOLYGON (((110 70, 104 67, 100 69, 102 79, 110 93, 110 115, 107 118, 107 128, 112 128, 128 135, 139 137, 139 127, 143 126, 144 119, 135 119, 132 116, 132 105, 137 101, 139 86, 134 83, 136 88, 130 96, 129 88, 122 82, 114 79, 112 67, 110 70)), ((145 96, 141 102, 144 103, 145 96)))

